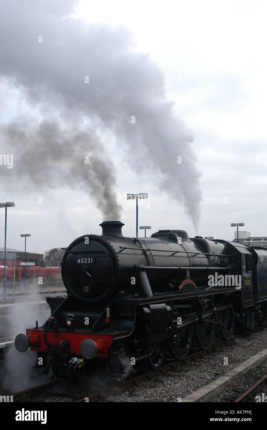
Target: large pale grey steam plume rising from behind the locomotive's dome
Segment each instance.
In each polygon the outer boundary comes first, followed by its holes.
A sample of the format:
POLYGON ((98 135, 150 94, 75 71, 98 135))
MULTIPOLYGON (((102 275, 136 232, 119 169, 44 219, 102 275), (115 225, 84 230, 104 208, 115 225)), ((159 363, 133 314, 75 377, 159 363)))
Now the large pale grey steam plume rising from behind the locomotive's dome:
MULTIPOLYGON (((65 0, 3 0, 0 75, 11 77, 44 118, 56 112, 69 126, 78 127, 87 118, 94 129, 110 132, 123 146, 130 167, 154 177, 158 172, 158 188, 185 204, 197 230, 201 172, 192 133, 167 100, 163 73, 148 54, 133 50, 132 34, 125 28, 68 18, 75 5, 65 0), (40 35, 43 43, 38 43, 40 35), (135 123, 130 121, 133 116, 135 123), (177 164, 178 156, 182 164, 177 164)), ((60 164, 57 148, 55 152, 60 164)), ((101 183, 100 171, 105 175, 103 164, 94 173, 101 183)))

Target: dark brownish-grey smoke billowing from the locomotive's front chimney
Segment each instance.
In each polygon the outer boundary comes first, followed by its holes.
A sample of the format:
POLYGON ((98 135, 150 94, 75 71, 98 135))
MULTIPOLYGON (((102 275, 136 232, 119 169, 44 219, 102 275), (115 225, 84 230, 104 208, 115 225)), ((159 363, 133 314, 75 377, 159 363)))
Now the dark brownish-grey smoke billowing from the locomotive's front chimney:
POLYGON ((52 122, 32 126, 21 121, 2 125, 0 139, 2 152, 14 154, 13 168, 1 172, 14 187, 19 178, 20 186, 24 183, 38 191, 55 186, 83 189, 105 220, 120 219, 121 206, 113 192, 115 175, 101 157, 105 151, 94 132, 62 130, 52 122))

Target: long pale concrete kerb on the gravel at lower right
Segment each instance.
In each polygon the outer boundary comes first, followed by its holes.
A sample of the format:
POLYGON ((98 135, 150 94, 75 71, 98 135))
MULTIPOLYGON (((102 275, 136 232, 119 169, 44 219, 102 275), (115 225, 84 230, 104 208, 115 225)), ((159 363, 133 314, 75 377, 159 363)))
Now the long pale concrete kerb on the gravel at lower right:
POLYGON ((265 359, 267 359, 267 348, 260 351, 258 354, 253 355, 242 364, 212 381, 210 384, 205 385, 205 387, 202 387, 199 390, 194 391, 194 393, 189 394, 189 396, 184 397, 182 402, 207 402, 207 400, 212 399, 212 397, 215 397, 224 391, 225 388, 232 384, 232 382, 234 382, 234 380, 239 376, 244 375, 249 372, 249 370, 255 369, 261 365, 265 359))

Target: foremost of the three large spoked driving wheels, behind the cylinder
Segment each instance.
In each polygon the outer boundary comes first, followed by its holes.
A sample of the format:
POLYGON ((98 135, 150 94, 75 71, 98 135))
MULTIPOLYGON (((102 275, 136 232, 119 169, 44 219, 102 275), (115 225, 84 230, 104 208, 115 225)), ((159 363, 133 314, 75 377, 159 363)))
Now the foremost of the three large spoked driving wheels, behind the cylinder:
POLYGON ((191 348, 193 340, 193 324, 174 330, 174 340, 170 344, 171 352, 178 360, 183 360, 191 348))

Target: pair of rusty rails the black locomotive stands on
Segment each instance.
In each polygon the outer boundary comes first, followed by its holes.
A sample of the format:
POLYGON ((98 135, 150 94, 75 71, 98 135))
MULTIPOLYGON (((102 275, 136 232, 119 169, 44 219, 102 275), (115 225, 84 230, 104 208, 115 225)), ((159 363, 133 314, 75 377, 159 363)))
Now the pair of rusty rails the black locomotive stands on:
MULTIPOLYGON (((261 326, 256 327, 252 331, 258 331, 258 330, 261 330, 261 326)), ((243 332, 241 334, 235 335, 230 339, 230 341, 232 341, 234 338, 239 338, 241 336, 248 336, 252 333, 252 331, 250 330, 250 331, 246 331, 246 332, 243 332)), ((78 402, 78 403, 103 401, 108 396, 111 396, 113 394, 118 395, 122 391, 126 390, 127 388, 138 386, 138 384, 140 384, 143 381, 147 381, 147 380, 150 380, 152 378, 155 378, 156 376, 162 375, 162 374, 164 374, 170 370, 175 370, 179 366, 183 365, 185 362, 195 361, 198 357, 209 354, 210 351, 212 351, 215 348, 218 348, 218 347, 220 347, 220 346, 222 346, 228 342, 229 342, 229 340, 219 341, 218 343, 213 344, 208 350, 197 351, 196 353, 185 357, 185 359, 183 359, 183 360, 177 360, 174 362, 172 361, 172 362, 162 366, 161 369, 152 370, 151 372, 146 372, 142 375, 137 375, 135 378, 130 379, 129 381, 126 381, 122 385, 115 385, 115 386, 109 387, 109 388, 102 390, 100 392, 97 392, 97 393, 88 393, 88 395, 85 395, 82 398, 78 398, 78 396, 77 396, 77 400, 74 400, 74 401, 78 402)), ((42 393, 42 392, 48 390, 53 385, 55 385, 56 382, 57 381, 51 381, 47 384, 39 385, 39 386, 30 388, 28 390, 21 391, 19 393, 14 393, 13 394, 13 402, 17 402, 21 399, 25 399, 27 397, 34 396, 38 393, 42 393)))

